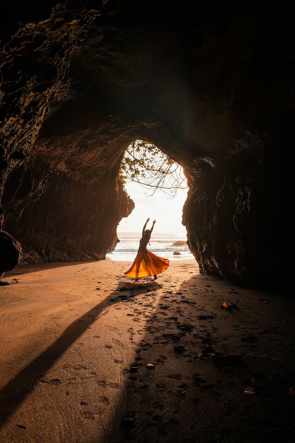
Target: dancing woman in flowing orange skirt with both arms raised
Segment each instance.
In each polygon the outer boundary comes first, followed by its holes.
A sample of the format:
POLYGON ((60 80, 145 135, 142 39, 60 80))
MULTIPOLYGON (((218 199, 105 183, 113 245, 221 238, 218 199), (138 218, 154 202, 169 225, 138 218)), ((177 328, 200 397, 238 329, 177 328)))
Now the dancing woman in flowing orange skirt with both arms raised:
POLYGON ((137 256, 129 271, 125 272, 126 277, 138 279, 139 277, 153 276, 156 280, 157 274, 166 271, 169 266, 169 260, 167 258, 158 257, 146 249, 151 233, 153 232, 153 226, 156 223, 156 220, 154 220, 152 229, 149 230, 146 229, 148 221, 149 218, 142 229, 142 238, 139 241, 137 256))

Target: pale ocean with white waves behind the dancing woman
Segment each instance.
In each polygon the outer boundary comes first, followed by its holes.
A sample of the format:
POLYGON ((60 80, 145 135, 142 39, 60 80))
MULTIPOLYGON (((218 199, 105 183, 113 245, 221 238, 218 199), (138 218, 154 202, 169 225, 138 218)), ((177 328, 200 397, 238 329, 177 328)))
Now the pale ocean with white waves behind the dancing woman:
MULTIPOLYGON (((117 233, 120 242, 115 247, 115 250, 107 254, 107 258, 111 260, 133 261, 139 246, 139 240, 142 237, 140 232, 117 233)), ((188 245, 173 246, 176 241, 187 241, 184 233, 166 234, 166 233, 152 233, 149 241, 150 246, 147 248, 150 252, 169 260, 192 259, 194 258, 188 249, 188 245), (180 252, 180 255, 173 255, 173 252, 180 252)))

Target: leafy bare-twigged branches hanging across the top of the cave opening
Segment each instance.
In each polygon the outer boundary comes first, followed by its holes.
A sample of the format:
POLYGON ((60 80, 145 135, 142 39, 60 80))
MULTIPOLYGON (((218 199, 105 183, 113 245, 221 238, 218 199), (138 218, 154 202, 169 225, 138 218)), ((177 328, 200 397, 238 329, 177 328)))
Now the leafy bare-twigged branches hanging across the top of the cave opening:
POLYGON ((134 140, 126 149, 120 168, 121 183, 137 182, 152 188, 152 194, 161 189, 175 196, 177 189, 187 189, 182 168, 152 143, 134 140))

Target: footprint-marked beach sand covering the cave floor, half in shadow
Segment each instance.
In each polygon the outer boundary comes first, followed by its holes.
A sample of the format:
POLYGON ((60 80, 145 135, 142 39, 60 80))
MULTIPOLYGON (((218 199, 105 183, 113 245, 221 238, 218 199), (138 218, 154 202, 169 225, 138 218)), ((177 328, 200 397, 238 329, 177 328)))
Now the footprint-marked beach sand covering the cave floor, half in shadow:
POLYGON ((202 276, 195 260, 156 281, 126 278, 130 264, 5 274, 0 442, 294 441, 283 277, 275 295, 202 276))

